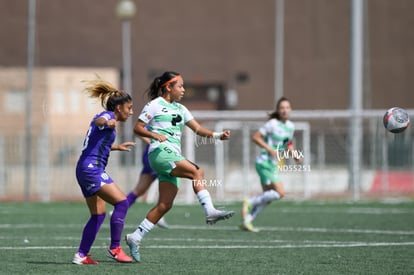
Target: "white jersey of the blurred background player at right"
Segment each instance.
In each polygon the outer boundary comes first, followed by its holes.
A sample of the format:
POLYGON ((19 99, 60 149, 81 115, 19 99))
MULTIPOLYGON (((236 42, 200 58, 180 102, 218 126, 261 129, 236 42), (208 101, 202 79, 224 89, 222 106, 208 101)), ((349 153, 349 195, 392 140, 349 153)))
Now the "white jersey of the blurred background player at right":
MULTIPOLYGON (((275 118, 269 119, 259 132, 263 137, 263 140, 274 150, 285 150, 289 142, 293 139, 293 133, 295 131, 295 125, 290 120, 286 120, 283 123, 275 118)), ((262 149, 260 155, 257 157, 257 162, 269 160, 270 155, 262 149)), ((276 160, 273 160, 276 161, 276 160)))

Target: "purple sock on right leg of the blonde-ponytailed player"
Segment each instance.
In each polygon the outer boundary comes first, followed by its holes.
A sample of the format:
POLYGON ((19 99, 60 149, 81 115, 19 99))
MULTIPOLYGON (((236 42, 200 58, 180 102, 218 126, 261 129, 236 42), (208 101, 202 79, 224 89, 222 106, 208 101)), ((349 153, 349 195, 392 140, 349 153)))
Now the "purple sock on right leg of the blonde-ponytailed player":
POLYGON ((114 212, 111 217, 111 245, 110 249, 114 249, 121 244, 122 231, 124 230, 124 219, 128 211, 128 201, 123 200, 114 205, 114 212))

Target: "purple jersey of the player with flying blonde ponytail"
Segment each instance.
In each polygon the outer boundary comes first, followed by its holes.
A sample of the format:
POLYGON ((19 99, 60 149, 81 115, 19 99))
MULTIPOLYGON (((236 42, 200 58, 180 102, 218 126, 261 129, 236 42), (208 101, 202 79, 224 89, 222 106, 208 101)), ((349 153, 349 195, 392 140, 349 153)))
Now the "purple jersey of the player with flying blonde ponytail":
POLYGON ((115 141, 116 129, 108 126, 96 126, 94 121, 99 117, 104 117, 106 120, 115 119, 115 115, 111 111, 99 113, 92 119, 83 142, 78 166, 94 165, 105 168, 108 163, 111 146, 115 141))

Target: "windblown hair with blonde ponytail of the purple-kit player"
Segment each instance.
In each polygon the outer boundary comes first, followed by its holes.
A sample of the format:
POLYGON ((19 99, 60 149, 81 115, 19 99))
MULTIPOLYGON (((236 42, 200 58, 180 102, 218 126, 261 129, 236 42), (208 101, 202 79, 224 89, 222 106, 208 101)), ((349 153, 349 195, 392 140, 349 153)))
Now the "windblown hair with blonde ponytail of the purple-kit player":
POLYGON ((118 90, 110 83, 97 78, 95 80, 84 81, 85 90, 92 98, 100 98, 102 107, 107 111, 115 111, 117 105, 123 105, 132 101, 131 95, 125 91, 118 90))

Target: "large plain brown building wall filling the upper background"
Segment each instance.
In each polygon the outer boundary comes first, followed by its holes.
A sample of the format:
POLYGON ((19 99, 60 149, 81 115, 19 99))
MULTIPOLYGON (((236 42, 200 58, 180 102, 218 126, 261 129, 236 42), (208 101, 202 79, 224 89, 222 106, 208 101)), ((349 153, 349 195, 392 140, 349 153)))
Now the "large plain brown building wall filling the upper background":
MULTIPOLYGON (((118 0, 37 0, 35 65, 122 67, 118 0)), ((239 83, 236 109, 272 109, 274 0, 136 0, 132 18, 137 110, 154 75, 182 73, 187 83, 239 83)), ((0 1, 0 66, 25 66, 27 1, 0 1)), ((366 1, 367 108, 412 108, 414 24, 410 0, 366 1)), ((285 1, 284 94, 296 109, 349 106, 350 1, 285 1)), ((36 92, 36 91, 35 91, 36 92)))

